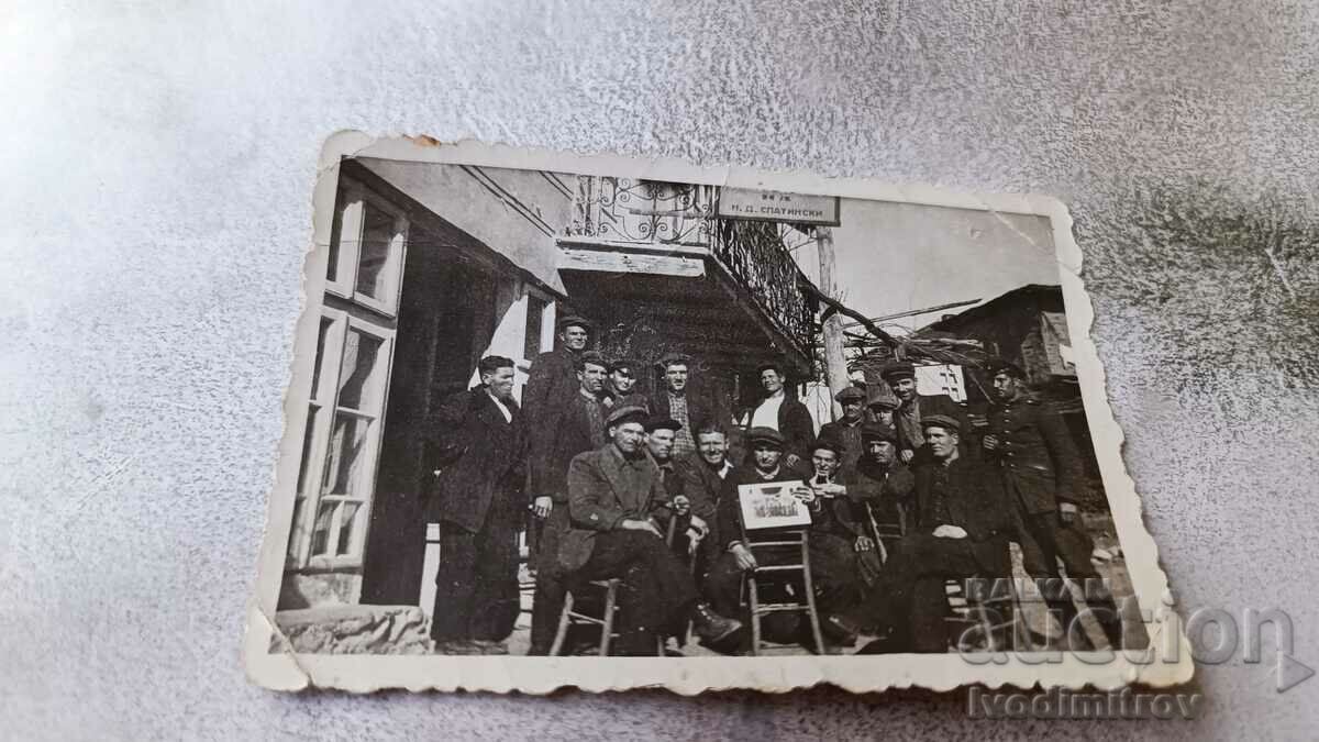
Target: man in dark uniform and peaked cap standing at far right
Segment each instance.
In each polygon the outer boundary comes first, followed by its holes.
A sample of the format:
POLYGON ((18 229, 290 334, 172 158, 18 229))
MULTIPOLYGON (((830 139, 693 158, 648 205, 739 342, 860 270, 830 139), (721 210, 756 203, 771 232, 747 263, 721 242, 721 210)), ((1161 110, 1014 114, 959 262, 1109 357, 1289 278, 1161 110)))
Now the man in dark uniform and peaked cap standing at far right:
MULTIPOLYGON (((987 367, 997 404, 981 442, 985 458, 998 467, 1008 499, 1021 515, 1022 556, 1026 573, 1062 619, 1071 638, 1076 605, 1070 581, 1082 581, 1091 614, 1113 650, 1122 646, 1121 617, 1099 572, 1089 561, 1095 544, 1082 528, 1076 494, 1082 489, 1082 462, 1067 425, 1058 412, 1030 395, 1026 375, 1006 360, 987 367), (1062 560, 1064 577, 1059 578, 1062 560)), ((1084 636, 1084 631, 1080 632, 1084 636)))

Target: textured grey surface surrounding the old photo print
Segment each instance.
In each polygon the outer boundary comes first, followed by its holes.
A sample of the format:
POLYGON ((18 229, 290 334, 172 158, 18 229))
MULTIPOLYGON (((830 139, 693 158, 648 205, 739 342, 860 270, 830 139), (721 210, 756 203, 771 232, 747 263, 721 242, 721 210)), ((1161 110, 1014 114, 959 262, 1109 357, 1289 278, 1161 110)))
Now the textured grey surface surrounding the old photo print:
POLYGON ((336 128, 1060 197, 1181 603, 1286 609, 1319 664, 1312 4, 264 5, 0 9, 0 735, 1314 733, 1319 681, 1239 660, 1199 722, 1060 729, 830 689, 281 696, 239 664, 336 128))

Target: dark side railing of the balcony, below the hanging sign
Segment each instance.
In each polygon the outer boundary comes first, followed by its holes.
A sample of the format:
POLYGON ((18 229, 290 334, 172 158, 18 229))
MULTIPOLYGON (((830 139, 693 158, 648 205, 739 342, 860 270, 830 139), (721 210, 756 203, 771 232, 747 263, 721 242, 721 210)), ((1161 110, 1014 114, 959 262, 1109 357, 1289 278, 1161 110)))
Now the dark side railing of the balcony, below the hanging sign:
POLYGON ((715 222, 711 253, 751 292, 756 304, 811 356, 815 341, 814 297, 802 290, 810 280, 797 267, 776 222, 715 222))

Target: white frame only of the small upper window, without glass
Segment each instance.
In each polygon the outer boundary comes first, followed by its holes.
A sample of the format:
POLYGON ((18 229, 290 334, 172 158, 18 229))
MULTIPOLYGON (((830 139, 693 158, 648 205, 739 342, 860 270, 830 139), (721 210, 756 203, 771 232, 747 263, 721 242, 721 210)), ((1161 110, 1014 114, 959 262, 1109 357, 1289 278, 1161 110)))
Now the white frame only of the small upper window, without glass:
POLYGON ((339 182, 343 215, 339 217, 339 243, 335 263, 335 280, 330 280, 326 269, 326 292, 360 304, 372 312, 394 317, 398 313, 398 294, 402 290, 404 253, 408 244, 410 223, 406 213, 389 203, 352 178, 339 182), (377 298, 357 290, 357 268, 361 263, 363 203, 371 205, 394 218, 394 236, 389 243, 389 255, 381 272, 385 275, 384 296, 377 298))

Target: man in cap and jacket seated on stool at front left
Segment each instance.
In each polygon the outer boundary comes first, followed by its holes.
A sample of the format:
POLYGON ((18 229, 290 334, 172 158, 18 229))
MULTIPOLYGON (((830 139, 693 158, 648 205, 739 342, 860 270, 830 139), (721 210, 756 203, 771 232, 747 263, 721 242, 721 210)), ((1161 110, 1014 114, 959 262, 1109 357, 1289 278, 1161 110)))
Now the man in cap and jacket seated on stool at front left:
POLYGON ((645 452, 646 417, 640 407, 615 409, 605 420, 608 442, 572 458, 572 525, 559 545, 559 565, 570 577, 623 578, 619 650, 627 655, 654 655, 656 638, 677 634, 687 619, 707 642, 741 627, 698 603, 691 577, 663 543, 657 520, 669 515, 667 494, 645 452))

